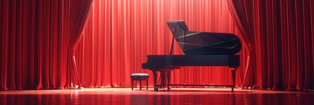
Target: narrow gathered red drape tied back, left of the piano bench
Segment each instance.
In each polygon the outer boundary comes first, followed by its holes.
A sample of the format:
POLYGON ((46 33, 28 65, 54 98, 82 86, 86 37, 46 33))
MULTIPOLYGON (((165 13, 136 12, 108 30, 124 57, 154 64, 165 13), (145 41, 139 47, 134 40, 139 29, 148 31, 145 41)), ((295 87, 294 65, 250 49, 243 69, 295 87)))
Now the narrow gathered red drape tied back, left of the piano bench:
POLYGON ((82 31, 86 24, 93 0, 73 0, 69 8, 69 24, 68 24, 68 59, 67 59, 67 80, 65 88, 81 88, 80 77, 78 75, 75 50, 82 38, 82 31), (77 82, 76 82, 77 81, 77 82))

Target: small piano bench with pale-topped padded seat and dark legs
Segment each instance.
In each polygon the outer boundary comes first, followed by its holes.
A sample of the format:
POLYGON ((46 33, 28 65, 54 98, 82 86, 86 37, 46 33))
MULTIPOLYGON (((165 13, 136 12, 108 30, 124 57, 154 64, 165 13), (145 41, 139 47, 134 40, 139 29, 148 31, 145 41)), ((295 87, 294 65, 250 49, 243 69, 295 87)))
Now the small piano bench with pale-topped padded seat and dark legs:
POLYGON ((147 73, 133 73, 131 74, 131 80, 132 80, 132 90, 133 90, 133 81, 139 80, 139 90, 142 89, 142 80, 146 80, 146 89, 148 89, 148 78, 149 75, 147 73))

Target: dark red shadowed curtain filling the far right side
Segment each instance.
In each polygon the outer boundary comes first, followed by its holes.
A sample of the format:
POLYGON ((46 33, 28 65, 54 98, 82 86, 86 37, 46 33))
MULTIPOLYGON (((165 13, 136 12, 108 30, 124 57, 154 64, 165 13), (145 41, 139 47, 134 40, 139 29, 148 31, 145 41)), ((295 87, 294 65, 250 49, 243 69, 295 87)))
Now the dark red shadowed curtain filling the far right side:
POLYGON ((257 63, 249 65, 246 75, 250 77, 245 78, 244 87, 313 90, 314 2, 227 1, 243 36, 252 36, 255 42, 251 45, 256 48, 257 63))

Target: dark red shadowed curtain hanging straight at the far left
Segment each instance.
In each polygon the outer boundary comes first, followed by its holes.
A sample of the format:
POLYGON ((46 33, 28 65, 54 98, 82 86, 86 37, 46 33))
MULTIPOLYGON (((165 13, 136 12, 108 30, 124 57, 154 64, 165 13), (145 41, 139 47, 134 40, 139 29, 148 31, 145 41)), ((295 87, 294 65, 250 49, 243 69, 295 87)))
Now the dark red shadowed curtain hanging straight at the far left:
MULTIPOLYGON (((1 90, 57 89, 64 86, 68 42, 73 45, 68 39, 82 30, 84 22, 80 18, 86 18, 83 16, 86 16, 88 7, 73 6, 78 9, 70 10, 70 5, 79 2, 69 1, 0 1, 1 90), (83 10, 84 15, 75 15, 79 10, 83 10)), ((91 0, 84 1, 91 4, 91 0)))

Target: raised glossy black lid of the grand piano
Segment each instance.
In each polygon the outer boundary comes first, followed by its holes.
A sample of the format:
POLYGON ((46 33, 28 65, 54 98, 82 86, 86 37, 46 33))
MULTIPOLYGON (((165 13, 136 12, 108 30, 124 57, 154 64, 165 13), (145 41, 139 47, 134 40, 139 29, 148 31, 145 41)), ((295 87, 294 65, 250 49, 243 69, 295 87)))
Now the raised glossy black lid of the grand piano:
POLYGON ((190 31, 184 20, 167 21, 184 54, 235 54, 241 49, 238 36, 231 33, 190 31))

